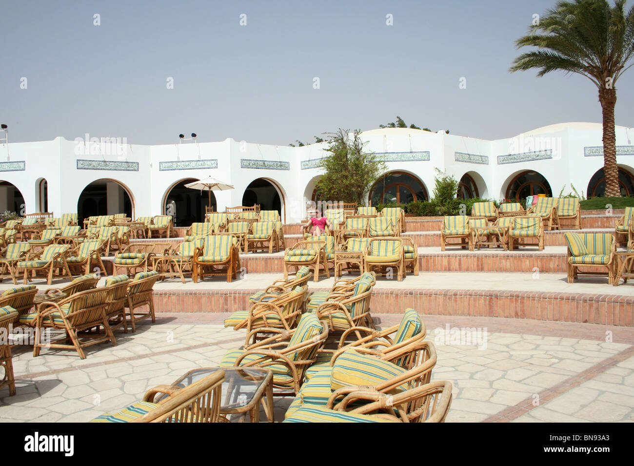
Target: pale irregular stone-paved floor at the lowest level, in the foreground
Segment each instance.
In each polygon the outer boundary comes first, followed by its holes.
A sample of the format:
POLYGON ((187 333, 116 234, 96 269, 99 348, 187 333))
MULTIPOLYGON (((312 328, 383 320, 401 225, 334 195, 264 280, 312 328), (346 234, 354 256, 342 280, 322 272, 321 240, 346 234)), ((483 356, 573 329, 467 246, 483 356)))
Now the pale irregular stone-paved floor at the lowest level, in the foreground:
MULTIPOLYGON (((117 332, 117 347, 90 347, 84 360, 70 350, 42 351, 33 358, 29 347, 15 347, 18 394, 9 397, 6 387, 0 390, 0 420, 86 422, 141 399, 147 389, 188 370, 213 366, 225 351, 243 343, 243 332, 223 327, 226 315, 160 314, 157 323, 144 321, 135 334, 117 332)), ((394 314, 374 316, 377 327, 399 320, 394 314)), ((447 422, 634 420, 633 328, 462 316, 424 319, 438 353, 432 378, 454 385, 447 422), (444 344, 444 333, 437 329, 446 326, 486 328, 486 339, 444 344)), ((288 403, 276 399, 276 420, 283 418, 288 403)))

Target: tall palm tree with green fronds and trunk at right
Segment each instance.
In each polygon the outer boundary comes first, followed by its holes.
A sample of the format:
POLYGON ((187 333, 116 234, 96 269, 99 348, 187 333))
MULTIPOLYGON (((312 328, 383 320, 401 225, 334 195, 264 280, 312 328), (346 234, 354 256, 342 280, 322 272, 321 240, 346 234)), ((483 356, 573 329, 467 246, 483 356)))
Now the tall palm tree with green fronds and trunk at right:
POLYGON ((625 0, 614 6, 607 0, 560 1, 515 41, 517 48, 534 46, 513 61, 509 71, 539 68, 539 77, 551 71, 584 75, 598 87, 603 113, 605 196, 620 197, 616 165, 614 105, 616 80, 634 55, 634 8, 625 13, 625 0))

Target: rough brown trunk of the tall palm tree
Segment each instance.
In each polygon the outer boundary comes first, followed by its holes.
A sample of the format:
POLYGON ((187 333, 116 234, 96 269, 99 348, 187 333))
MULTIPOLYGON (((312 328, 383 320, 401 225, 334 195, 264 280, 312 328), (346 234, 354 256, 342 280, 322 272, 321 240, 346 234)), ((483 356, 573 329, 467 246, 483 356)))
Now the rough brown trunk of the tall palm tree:
POLYGON ((616 89, 602 88, 598 100, 603 110, 603 171, 605 175, 605 197, 621 197, 619 168, 616 165, 616 133, 614 132, 614 105, 616 89))

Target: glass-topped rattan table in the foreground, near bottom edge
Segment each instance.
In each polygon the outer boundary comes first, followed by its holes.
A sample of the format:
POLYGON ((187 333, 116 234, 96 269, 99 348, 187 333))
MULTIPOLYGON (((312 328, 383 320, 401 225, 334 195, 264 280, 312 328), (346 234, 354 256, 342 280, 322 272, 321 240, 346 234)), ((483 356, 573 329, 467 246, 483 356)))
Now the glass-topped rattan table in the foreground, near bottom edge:
MULTIPOLYGON (((176 387, 187 387, 188 385, 204 379, 210 373, 217 370, 224 370, 224 382, 222 386, 220 414, 231 422, 229 415, 238 415, 238 422, 244 422, 249 414, 250 422, 259 422, 260 403, 264 406, 264 412, 269 422, 275 422, 273 415, 273 372, 269 369, 256 367, 204 367, 190 370, 183 377, 174 381, 176 387), (266 395, 266 401, 262 396, 266 395)), ((162 395, 155 399, 158 403, 160 399, 167 395, 162 395)))

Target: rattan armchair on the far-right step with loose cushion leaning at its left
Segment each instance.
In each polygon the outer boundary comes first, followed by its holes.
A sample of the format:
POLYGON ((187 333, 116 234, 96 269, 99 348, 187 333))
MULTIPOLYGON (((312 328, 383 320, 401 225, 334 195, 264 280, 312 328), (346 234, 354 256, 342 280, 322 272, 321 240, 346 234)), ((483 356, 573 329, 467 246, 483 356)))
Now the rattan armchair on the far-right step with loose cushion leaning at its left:
POLYGON ((568 245, 568 283, 574 283, 579 275, 607 276, 608 283, 614 283, 616 242, 611 233, 567 232, 564 238, 568 245))

